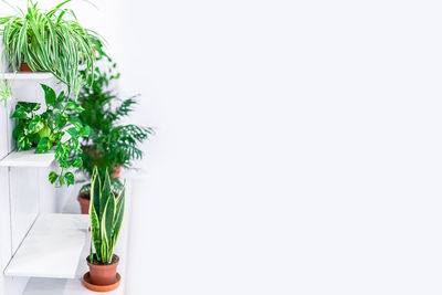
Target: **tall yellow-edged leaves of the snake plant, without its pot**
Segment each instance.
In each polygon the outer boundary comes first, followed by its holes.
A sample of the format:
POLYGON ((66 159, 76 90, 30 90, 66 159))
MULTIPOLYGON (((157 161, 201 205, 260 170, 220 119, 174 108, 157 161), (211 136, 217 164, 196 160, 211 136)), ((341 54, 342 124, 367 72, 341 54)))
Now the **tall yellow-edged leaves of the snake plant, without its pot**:
POLYGON ((112 262, 114 247, 122 231, 125 211, 125 188, 115 197, 110 186, 109 173, 99 177, 98 169, 94 168, 91 185, 91 255, 90 262, 95 260, 101 264, 112 262), (95 255, 93 249, 95 247, 95 255))

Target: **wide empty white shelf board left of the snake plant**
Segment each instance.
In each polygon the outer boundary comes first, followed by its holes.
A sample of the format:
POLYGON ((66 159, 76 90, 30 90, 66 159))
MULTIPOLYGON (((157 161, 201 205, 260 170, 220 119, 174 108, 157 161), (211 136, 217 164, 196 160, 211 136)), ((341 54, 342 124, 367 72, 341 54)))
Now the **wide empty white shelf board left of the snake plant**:
POLYGON ((39 215, 4 275, 77 278, 77 268, 86 264, 88 220, 85 214, 39 215))

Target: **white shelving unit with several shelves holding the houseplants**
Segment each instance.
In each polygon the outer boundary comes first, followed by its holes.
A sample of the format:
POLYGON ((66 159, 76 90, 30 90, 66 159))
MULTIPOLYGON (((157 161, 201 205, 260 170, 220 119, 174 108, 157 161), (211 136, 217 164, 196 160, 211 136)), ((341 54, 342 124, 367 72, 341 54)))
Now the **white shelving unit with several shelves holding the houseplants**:
MULTIPOLYGON (((4 123, 0 124, 0 134, 7 139, 12 138, 14 122, 11 114, 17 102, 43 104, 41 83, 55 92, 63 89, 51 73, 0 73, 2 78, 10 83, 13 96, 0 112, 0 120, 4 123)), ((85 260, 91 243, 90 218, 61 213, 64 212, 60 207, 63 202, 61 197, 69 197, 77 208, 77 191, 55 189, 48 182, 46 176, 54 169, 53 151, 15 151, 12 141, 7 139, 0 140, 0 189, 9 192, 0 196, 3 226, 0 230, 3 273, 0 275, 0 294, 96 294, 83 285, 83 275, 88 271, 85 260)), ((122 257, 118 265, 122 283, 107 294, 123 295, 125 292, 127 223, 115 251, 122 257)))

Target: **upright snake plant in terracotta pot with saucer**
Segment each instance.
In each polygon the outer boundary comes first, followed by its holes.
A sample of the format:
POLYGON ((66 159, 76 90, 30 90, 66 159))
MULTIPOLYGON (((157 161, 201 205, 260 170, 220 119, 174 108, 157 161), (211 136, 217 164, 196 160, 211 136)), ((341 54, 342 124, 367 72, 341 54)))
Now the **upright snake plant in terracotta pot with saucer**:
POLYGON ((113 291, 120 281, 117 274, 119 257, 114 254, 114 247, 122 231, 125 188, 115 198, 109 173, 106 171, 101 178, 97 168, 92 176, 90 211, 92 243, 86 259, 90 272, 83 276, 84 283, 92 291, 113 291))

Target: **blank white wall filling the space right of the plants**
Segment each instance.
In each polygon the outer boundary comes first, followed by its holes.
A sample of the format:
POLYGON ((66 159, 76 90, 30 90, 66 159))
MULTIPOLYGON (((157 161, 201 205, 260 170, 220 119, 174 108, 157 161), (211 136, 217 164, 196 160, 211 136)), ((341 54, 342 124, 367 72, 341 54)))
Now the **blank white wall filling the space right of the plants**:
POLYGON ((440 1, 95 1, 138 124, 129 295, 441 294, 440 1))

